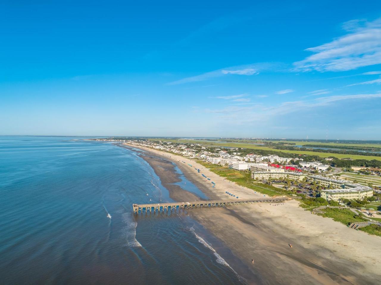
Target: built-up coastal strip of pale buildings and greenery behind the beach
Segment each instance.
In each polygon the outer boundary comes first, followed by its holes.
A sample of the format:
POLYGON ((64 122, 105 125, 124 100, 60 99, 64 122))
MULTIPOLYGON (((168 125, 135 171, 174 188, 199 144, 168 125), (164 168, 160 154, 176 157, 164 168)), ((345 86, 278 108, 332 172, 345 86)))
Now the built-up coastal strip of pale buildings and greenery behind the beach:
MULTIPOLYGON (((147 147, 189 158, 227 180, 269 197, 299 196, 296 198, 301 198, 299 199, 300 206, 313 214, 329 216, 333 213, 332 218, 335 219, 335 212, 330 211, 338 208, 347 215, 347 218, 341 222, 348 226, 353 222, 381 222, 379 186, 376 183, 371 184, 367 180, 362 180, 361 177, 356 177, 358 180, 351 179, 351 176, 348 176, 351 173, 342 172, 343 169, 337 168, 333 164, 329 165, 330 159, 311 161, 308 157, 300 155, 281 157, 271 153, 257 154, 242 148, 224 148, 198 143, 184 144, 160 139, 105 138, 96 140, 124 142, 130 146, 147 147), (366 211, 363 211, 364 208, 366 211), (317 210, 314 211, 314 209, 317 210), (349 213, 356 217, 351 218, 349 213)), ((360 176, 360 172, 357 176, 360 176)), ((378 181, 375 175, 372 179, 374 179, 373 182, 378 181)), ((379 183, 381 184, 381 179, 379 183)), ((378 225, 379 223, 376 224, 376 226, 378 225)), ((368 230, 367 227, 355 228, 368 230)), ((378 232, 381 235, 381 230, 378 232)))

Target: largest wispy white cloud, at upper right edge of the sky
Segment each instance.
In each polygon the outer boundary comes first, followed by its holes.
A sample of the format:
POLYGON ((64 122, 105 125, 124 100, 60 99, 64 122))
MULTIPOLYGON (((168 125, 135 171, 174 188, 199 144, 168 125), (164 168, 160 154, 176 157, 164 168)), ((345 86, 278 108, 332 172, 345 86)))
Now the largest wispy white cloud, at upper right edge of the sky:
POLYGON ((306 49, 314 54, 295 62, 296 70, 346 71, 381 63, 381 19, 352 20, 343 29, 349 33, 306 49))

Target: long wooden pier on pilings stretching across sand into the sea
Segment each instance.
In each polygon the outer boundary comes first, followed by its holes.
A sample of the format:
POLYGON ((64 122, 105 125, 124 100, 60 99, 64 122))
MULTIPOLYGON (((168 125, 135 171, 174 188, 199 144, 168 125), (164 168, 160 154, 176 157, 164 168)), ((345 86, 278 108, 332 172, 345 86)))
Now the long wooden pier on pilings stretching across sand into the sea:
MULTIPOLYGON (((299 197, 295 197, 298 199, 299 197)), ((237 199, 237 200, 216 200, 216 201, 194 201, 194 202, 178 202, 178 203, 160 203, 160 204, 132 204, 134 214, 139 214, 139 211, 143 213, 147 212, 168 212, 176 211, 177 209, 193 209, 193 208, 208 208, 208 207, 226 207, 230 205, 239 204, 252 204, 252 203, 277 203, 282 201, 288 201, 291 197, 272 197, 272 198, 255 198, 255 199, 237 199)))

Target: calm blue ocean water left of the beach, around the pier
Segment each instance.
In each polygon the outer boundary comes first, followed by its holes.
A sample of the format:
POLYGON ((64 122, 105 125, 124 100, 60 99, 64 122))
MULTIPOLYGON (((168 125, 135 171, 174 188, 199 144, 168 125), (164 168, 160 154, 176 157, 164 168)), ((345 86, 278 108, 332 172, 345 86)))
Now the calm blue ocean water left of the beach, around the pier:
POLYGON ((0 195, 2 285, 241 283, 187 215, 132 214, 170 199, 131 150, 0 136, 0 195))

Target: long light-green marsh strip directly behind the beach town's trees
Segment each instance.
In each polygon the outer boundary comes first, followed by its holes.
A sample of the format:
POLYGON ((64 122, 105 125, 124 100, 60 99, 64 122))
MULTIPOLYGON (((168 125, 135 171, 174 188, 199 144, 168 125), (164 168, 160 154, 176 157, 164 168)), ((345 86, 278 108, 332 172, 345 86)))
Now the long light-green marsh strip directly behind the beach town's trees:
MULTIPOLYGON (((235 142, 210 142, 206 140, 196 140, 196 139, 149 139, 150 141, 170 141, 170 142, 177 142, 177 143, 188 143, 188 144, 202 144, 203 146, 212 146, 212 147, 241 147, 246 149, 253 149, 254 151, 257 150, 269 150, 269 151, 276 151, 276 152, 283 152, 287 154, 305 154, 305 155, 317 155, 319 157, 325 158, 325 157, 337 157, 337 158, 347 158, 351 157, 352 159, 365 159, 365 160, 380 160, 381 157, 377 156, 368 156, 368 155, 349 155, 349 154, 332 154, 332 153, 326 153, 326 152, 313 152, 313 151, 299 151, 299 150, 284 150, 284 149, 273 149, 268 146, 258 146, 255 144, 250 143, 235 143, 235 142)), ((353 145, 354 146, 354 145, 353 145)), ((376 145, 375 145, 376 146, 376 145)))

